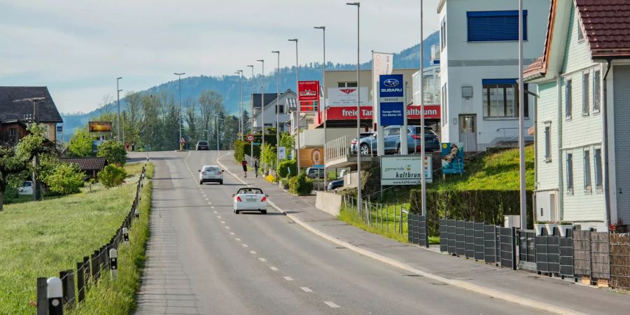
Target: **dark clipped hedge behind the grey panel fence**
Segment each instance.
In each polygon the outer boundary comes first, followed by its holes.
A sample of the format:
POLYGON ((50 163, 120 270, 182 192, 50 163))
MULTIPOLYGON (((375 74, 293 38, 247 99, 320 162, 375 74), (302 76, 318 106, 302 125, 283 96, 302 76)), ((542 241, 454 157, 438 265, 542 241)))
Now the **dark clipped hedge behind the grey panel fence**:
MULTIPOLYGON (((532 192, 527 191, 527 225, 530 227, 533 227, 532 196, 532 192)), ((427 228, 431 236, 440 234, 439 218, 502 225, 503 216, 520 214, 518 190, 427 190, 426 201, 427 228)), ((421 190, 411 190, 409 202, 411 211, 420 213, 421 190)))

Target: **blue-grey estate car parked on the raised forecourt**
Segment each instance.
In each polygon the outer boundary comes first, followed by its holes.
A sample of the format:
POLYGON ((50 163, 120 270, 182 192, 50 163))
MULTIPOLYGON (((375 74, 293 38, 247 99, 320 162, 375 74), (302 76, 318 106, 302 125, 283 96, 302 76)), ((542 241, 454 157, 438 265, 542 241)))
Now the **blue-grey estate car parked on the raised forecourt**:
MULTIPOLYGON (((407 153, 416 153, 421 150, 420 128, 420 126, 407 126, 409 130, 409 132, 407 132, 407 153)), ((385 154, 402 153, 400 148, 400 126, 385 127, 383 130, 383 139, 385 143, 385 154)), ((356 138, 353 142, 356 142, 356 138)), ((437 138, 437 134, 428 127, 424 128, 424 145, 426 152, 440 150, 440 140, 437 138)), ((361 138, 359 148, 362 155, 372 154, 372 152, 377 151, 377 147, 378 139, 376 134, 361 138)), ((356 154, 356 144, 351 146, 350 151, 356 154)))

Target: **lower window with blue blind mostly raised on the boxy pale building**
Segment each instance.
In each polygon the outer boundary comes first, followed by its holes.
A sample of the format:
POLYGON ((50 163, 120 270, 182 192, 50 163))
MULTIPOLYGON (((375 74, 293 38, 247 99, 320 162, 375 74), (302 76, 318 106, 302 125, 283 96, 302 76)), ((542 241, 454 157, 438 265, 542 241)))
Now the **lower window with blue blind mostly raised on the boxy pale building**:
MULTIPOLYGON (((519 97, 516 79, 484 79, 484 118, 518 118, 519 97)), ((525 85, 527 90, 527 85, 525 85)), ((528 97, 524 97, 525 117, 528 117, 528 97)))

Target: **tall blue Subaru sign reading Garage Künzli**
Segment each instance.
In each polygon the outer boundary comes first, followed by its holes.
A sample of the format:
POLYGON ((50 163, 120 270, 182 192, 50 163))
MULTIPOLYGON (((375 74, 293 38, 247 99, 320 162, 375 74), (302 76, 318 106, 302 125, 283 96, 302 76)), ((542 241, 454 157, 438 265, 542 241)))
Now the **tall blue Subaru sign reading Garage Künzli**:
POLYGON ((405 85, 402 74, 379 76, 380 125, 402 125, 405 112, 405 85))

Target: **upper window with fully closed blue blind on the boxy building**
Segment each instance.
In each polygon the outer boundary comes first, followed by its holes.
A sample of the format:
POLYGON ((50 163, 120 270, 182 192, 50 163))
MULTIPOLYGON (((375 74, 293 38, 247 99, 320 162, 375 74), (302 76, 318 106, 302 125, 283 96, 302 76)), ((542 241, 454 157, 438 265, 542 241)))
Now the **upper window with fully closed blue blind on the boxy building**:
MULTIPOLYGON (((468 41, 518 41, 519 11, 467 12, 468 41)), ((523 10, 523 40, 527 40, 527 10, 523 10)))

